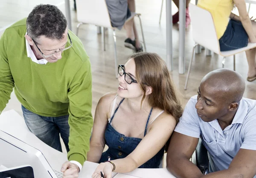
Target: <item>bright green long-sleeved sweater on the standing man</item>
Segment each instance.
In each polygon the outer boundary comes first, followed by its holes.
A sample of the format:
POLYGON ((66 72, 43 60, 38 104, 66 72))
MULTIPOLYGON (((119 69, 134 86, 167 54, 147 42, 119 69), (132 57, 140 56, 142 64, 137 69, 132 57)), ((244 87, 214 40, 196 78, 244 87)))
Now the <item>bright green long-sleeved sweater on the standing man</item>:
POLYGON ((69 31, 73 47, 62 53, 61 60, 35 63, 27 57, 25 34, 26 19, 23 19, 6 29, 0 38, 0 112, 14 87, 20 103, 35 114, 49 117, 69 114, 68 159, 83 165, 93 125, 89 57, 79 38, 69 31))

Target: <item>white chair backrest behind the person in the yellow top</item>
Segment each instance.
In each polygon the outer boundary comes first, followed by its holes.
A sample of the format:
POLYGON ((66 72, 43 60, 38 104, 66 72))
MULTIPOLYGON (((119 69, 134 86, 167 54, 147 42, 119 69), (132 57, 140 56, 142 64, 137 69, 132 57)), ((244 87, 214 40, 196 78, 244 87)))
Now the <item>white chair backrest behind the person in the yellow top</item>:
POLYGON ((194 4, 189 4, 191 14, 193 40, 217 54, 220 53, 212 14, 194 4))

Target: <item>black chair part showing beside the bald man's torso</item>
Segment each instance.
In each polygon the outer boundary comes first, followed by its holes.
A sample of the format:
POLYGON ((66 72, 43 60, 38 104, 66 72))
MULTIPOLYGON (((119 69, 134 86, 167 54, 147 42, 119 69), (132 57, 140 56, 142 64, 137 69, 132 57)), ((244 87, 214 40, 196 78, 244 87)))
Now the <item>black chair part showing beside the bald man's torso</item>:
POLYGON ((195 149, 195 160, 195 164, 201 170, 201 172, 204 175, 207 174, 209 167, 208 152, 205 146, 202 144, 201 138, 199 138, 198 145, 196 146, 195 149))

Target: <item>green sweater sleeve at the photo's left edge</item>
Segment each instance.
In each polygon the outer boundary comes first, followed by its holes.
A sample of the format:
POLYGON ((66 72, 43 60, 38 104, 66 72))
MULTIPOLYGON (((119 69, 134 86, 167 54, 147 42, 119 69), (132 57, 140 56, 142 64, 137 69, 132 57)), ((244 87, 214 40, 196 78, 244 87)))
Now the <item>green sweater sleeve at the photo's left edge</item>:
POLYGON ((0 38, 0 113, 11 98, 12 89, 14 87, 14 80, 9 67, 6 43, 6 32, 4 32, 0 38))

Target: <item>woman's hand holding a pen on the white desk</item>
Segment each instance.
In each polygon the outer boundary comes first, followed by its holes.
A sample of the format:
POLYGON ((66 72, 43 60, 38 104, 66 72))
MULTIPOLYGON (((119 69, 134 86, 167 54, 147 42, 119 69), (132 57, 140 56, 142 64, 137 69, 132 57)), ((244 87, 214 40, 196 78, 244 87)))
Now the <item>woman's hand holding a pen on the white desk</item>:
POLYGON ((92 178, 102 178, 101 173, 103 173, 104 178, 112 177, 113 165, 110 162, 105 162, 99 164, 99 166, 95 169, 92 178))

